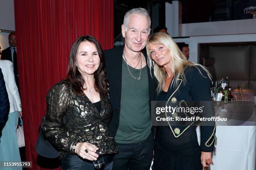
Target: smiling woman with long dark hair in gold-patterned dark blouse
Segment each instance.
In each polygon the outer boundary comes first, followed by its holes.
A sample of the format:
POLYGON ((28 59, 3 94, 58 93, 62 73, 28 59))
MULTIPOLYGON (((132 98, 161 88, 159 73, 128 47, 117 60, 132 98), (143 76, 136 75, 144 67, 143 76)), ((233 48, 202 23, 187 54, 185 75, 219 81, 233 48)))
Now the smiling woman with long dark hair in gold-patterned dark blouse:
POLYGON ((46 96, 47 112, 41 122, 44 134, 60 150, 63 170, 94 170, 92 160, 97 160, 99 148, 105 170, 112 170, 118 148, 108 130, 112 107, 105 59, 94 37, 82 36, 74 42, 67 76, 46 96), (91 144, 95 142, 99 148, 91 144))

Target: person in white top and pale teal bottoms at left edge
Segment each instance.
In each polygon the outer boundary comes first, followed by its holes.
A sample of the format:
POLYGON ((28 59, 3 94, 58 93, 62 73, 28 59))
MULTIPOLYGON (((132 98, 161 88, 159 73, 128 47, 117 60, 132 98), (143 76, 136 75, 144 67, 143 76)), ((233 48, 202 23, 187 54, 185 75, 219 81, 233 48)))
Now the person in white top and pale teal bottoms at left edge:
MULTIPOLYGON (((0 60, 0 68, 3 72, 10 102, 8 120, 3 128, 2 137, 0 138, 0 161, 20 162, 20 151, 15 131, 18 124, 18 114, 22 116, 20 95, 15 83, 13 63, 8 60, 0 60)), ((15 170, 16 169, 21 170, 22 168, 15 168, 15 170)))

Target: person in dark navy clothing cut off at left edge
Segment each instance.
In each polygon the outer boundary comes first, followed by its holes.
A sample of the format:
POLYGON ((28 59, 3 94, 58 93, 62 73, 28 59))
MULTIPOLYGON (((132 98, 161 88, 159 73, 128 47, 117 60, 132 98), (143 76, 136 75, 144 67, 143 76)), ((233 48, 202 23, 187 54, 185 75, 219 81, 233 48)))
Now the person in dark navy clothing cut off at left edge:
POLYGON ((8 93, 5 87, 5 80, 3 77, 3 73, 0 68, 0 139, 2 136, 3 127, 5 126, 5 123, 7 121, 9 109, 10 109, 10 102, 9 102, 8 93))

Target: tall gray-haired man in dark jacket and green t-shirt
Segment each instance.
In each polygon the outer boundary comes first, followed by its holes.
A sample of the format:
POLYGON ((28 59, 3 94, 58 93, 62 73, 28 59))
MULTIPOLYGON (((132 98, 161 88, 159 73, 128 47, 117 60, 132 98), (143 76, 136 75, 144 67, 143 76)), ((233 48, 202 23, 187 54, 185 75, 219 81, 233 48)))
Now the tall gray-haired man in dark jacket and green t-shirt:
POLYGON ((149 170, 151 165, 154 135, 150 108, 155 88, 142 51, 150 23, 146 9, 129 10, 121 26, 125 46, 104 51, 114 108, 109 127, 120 150, 114 156, 113 170, 149 170))

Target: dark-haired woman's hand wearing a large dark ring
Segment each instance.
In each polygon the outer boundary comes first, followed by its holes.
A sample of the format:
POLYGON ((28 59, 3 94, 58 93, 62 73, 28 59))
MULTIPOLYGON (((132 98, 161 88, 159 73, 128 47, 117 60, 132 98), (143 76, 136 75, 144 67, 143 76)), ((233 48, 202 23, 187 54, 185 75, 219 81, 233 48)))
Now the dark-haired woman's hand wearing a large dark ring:
POLYGON ((87 142, 77 143, 75 153, 83 159, 97 160, 99 156, 97 155, 96 150, 98 149, 99 148, 97 148, 95 145, 87 142), (85 150, 87 150, 87 153, 85 152, 85 150))

